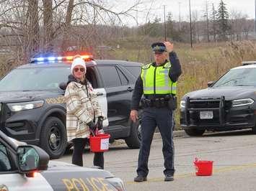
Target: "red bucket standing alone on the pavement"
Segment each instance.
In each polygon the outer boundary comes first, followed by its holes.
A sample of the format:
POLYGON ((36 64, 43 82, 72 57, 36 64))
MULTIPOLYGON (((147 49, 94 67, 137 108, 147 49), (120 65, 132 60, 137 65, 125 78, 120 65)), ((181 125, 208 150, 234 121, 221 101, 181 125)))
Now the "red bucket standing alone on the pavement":
POLYGON ((203 161, 195 158, 195 172, 197 176, 211 176, 213 174, 213 161, 203 161))

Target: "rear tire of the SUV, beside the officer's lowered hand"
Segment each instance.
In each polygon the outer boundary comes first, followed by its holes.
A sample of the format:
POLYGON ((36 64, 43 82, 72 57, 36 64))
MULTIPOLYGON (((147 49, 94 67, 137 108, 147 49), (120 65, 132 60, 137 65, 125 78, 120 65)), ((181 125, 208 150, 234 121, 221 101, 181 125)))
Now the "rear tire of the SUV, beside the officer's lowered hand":
POLYGON ((136 123, 131 121, 131 134, 125 139, 125 143, 131 149, 138 149, 141 146, 141 118, 136 123))

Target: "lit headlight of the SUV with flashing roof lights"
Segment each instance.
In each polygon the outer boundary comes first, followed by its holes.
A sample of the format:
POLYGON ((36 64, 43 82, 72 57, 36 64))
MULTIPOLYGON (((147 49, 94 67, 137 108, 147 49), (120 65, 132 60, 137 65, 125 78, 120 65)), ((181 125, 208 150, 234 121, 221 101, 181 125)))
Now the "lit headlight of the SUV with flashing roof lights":
POLYGON ((7 103, 7 106, 11 111, 24 111, 33 108, 40 108, 43 106, 44 101, 29 101, 20 103, 7 103))

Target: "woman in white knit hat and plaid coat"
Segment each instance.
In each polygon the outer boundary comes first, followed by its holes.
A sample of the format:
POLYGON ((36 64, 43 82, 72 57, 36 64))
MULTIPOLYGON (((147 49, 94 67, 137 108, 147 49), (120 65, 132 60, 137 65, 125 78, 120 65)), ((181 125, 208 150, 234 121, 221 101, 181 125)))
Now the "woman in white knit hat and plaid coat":
MULTIPOLYGON (((71 75, 66 87, 66 131, 68 141, 72 141, 74 151, 72 163, 83 166, 82 154, 91 132, 102 129, 105 118, 97 94, 85 78, 87 67, 81 57, 76 57, 71 65, 71 75)), ((94 153, 94 166, 104 168, 103 152, 94 153)))

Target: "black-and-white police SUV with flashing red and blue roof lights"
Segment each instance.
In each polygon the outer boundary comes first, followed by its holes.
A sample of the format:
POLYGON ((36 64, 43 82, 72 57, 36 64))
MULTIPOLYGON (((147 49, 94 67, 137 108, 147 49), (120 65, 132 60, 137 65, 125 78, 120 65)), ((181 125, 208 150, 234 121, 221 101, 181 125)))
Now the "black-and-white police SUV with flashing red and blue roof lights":
MULTIPOLYGON (((81 55, 87 64, 87 79, 97 92, 105 132, 111 139, 125 139, 130 148, 140 146, 140 124, 129 119, 134 84, 141 64, 121 60, 93 60, 81 55)), ((51 159, 66 150, 65 85, 71 74, 73 56, 37 57, 17 67, 0 80, 1 131, 36 144, 51 159)))

